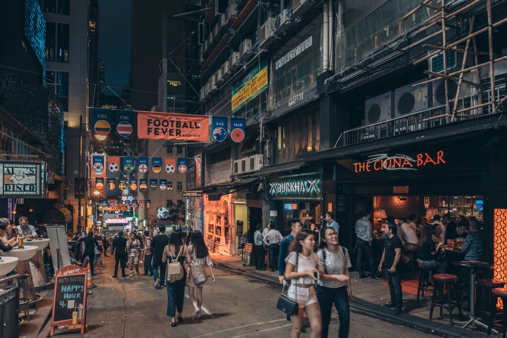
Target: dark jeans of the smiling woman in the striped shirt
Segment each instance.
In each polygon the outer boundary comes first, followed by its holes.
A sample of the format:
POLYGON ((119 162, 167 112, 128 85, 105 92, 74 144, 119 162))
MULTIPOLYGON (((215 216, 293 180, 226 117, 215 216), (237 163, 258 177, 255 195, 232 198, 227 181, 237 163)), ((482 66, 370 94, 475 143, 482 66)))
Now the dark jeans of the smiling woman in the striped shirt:
POLYGON ((350 327, 350 310, 348 304, 347 287, 331 288, 325 286, 317 286, 317 299, 320 307, 320 315, 322 316, 322 331, 320 337, 327 337, 329 333, 329 322, 331 321, 331 310, 333 303, 338 312, 340 320, 340 329, 338 330, 339 338, 347 338, 350 327))

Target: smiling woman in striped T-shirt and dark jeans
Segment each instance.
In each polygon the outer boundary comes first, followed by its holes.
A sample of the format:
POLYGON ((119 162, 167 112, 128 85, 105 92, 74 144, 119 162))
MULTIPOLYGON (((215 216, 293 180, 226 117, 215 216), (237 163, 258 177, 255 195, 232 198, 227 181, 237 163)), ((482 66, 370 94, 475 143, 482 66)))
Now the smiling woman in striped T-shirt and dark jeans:
POLYGON ((333 228, 324 228, 317 257, 320 275, 317 282, 317 298, 322 316, 320 336, 328 336, 334 303, 340 320, 338 336, 346 338, 350 325, 349 300, 352 299, 348 269, 352 264, 347 249, 338 245, 338 234, 333 228))

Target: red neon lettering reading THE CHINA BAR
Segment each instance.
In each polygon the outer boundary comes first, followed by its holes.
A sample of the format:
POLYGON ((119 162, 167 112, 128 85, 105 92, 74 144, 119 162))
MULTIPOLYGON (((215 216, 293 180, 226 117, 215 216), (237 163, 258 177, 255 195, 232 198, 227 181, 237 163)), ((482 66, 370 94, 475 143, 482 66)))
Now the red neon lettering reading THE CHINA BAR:
POLYGON ((446 163, 444 152, 436 154, 420 153, 414 157, 394 154, 370 155, 368 160, 354 163, 354 172, 375 172, 381 170, 418 170, 419 167, 437 166, 446 163))

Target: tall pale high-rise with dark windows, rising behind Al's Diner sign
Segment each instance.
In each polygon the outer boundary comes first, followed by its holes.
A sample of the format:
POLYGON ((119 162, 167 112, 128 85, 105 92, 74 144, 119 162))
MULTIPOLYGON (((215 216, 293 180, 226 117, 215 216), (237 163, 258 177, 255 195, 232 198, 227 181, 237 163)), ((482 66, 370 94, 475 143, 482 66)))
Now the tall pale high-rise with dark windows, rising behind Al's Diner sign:
MULTIPOLYGON (((87 1, 71 2, 70 0, 42 0, 41 4, 46 19, 46 82, 49 84, 48 86, 54 87, 54 92, 62 101, 65 110, 65 175, 72 185, 78 185, 80 152, 77 152, 76 149, 80 147, 80 116, 83 117, 83 135, 86 135, 86 130, 90 127, 87 114, 90 55, 88 50, 89 4, 87 1), (70 149, 72 150, 70 151, 70 149)), ((96 11, 93 13, 96 14, 94 17, 96 24, 98 13, 96 11)), ((82 144, 88 143, 84 139, 82 144)), ((86 177, 85 146, 83 150, 81 176, 86 177)), ((70 190, 67 203, 74 206, 74 229, 76 230, 79 202, 75 192, 73 187, 70 190)), ((83 200, 81 203, 83 224, 84 211, 83 200)))

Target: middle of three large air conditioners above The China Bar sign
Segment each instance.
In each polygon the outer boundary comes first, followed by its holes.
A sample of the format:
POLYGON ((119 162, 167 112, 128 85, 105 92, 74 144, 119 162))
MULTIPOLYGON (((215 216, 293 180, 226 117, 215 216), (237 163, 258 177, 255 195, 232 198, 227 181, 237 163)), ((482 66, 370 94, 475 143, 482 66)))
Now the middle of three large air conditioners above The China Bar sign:
POLYGON ((428 108, 428 86, 412 87, 412 85, 394 90, 395 117, 405 116, 428 108))

